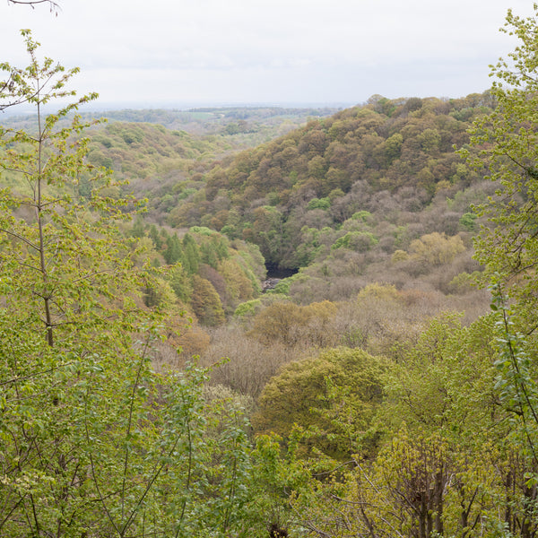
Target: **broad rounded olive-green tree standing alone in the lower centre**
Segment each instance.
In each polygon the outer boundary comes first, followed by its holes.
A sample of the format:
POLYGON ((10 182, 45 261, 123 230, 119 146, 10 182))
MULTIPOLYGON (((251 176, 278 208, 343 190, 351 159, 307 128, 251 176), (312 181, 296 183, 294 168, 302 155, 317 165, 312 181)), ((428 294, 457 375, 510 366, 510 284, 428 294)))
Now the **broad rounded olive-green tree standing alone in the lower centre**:
POLYGON ((262 391, 256 430, 287 439, 299 425, 308 430, 308 450, 340 458, 367 453, 377 440, 371 421, 386 366, 380 357, 343 347, 291 362, 262 391))

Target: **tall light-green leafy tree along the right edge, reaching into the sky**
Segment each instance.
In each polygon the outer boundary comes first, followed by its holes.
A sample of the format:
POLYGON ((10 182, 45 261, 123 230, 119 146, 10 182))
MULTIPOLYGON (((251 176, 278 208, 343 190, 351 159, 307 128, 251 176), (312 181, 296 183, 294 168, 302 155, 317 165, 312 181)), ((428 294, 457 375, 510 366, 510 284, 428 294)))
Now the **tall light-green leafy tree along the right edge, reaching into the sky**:
MULTIPOLYGON (((498 317, 496 388, 512 422, 509 438, 520 470, 507 476, 507 487, 518 484, 524 507, 532 509, 538 476, 538 4, 534 16, 526 19, 508 10, 504 31, 519 44, 491 68, 496 108, 489 117, 475 120, 470 131, 478 157, 463 153, 475 167, 485 166, 499 186, 489 203, 475 211, 488 218, 475 241, 475 256, 485 266, 483 282, 490 284, 491 307, 498 317)), ((523 508, 508 525, 532 536, 538 519, 523 508)))

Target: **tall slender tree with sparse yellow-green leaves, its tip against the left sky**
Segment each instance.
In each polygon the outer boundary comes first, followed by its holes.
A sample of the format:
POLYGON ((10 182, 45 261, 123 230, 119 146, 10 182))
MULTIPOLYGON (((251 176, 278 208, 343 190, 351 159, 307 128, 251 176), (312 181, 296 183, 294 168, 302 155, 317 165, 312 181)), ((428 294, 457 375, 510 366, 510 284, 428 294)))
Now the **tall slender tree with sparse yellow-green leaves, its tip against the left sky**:
POLYGON ((50 100, 74 95, 65 90, 65 83, 78 70, 65 73, 64 67, 49 58, 39 65, 39 43, 29 30, 22 35, 29 67, 22 70, 3 64, 2 69, 15 82, 11 94, 35 106, 37 128, 35 134, 0 128, 5 148, 0 163, 4 178, 0 259, 4 271, 12 275, 11 280, 4 280, 2 292, 8 308, 17 310, 19 318, 26 316, 29 326, 41 320, 48 345, 53 346, 55 334, 61 338, 90 317, 94 325, 108 317, 102 311, 100 316, 97 303, 102 297, 118 297, 129 266, 125 247, 111 223, 130 219, 130 215, 122 211, 127 200, 111 203, 101 194, 111 186, 110 175, 102 170, 91 178, 90 199, 83 204, 74 199, 78 182, 92 172, 84 163, 87 140, 80 138, 87 124, 77 116, 70 127, 58 123, 97 94, 43 117, 41 108, 50 100), (22 208, 32 216, 21 218, 22 208), (115 265, 115 270, 108 264, 115 265))

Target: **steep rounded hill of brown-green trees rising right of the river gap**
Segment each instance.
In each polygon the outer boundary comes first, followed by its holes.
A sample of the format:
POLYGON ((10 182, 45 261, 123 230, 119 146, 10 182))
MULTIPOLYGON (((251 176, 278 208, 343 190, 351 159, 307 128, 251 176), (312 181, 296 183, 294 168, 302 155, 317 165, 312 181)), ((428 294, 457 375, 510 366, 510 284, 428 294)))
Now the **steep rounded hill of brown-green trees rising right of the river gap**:
MULTIPOLYGON (((421 212, 436 194, 446 198, 479 181, 454 148, 467 143, 470 122, 492 105, 488 93, 459 100, 377 96, 215 163, 202 191, 182 200, 169 224, 203 224, 256 242, 271 263, 308 265, 312 253, 299 254, 305 227, 336 230, 360 211, 376 223, 405 226, 407 213, 421 212)), ((436 230, 456 233, 463 213, 453 215, 456 226, 439 221, 436 230)))

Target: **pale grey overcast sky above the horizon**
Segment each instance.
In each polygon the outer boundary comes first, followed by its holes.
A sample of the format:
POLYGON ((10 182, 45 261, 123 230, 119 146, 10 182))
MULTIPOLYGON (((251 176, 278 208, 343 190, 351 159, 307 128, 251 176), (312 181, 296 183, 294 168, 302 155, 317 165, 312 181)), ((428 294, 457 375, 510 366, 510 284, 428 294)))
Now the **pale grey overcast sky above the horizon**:
POLYGON ((370 95, 462 97, 515 41, 530 0, 58 0, 54 16, 0 0, 0 62, 26 65, 19 30, 79 66, 100 104, 356 104, 370 95))

